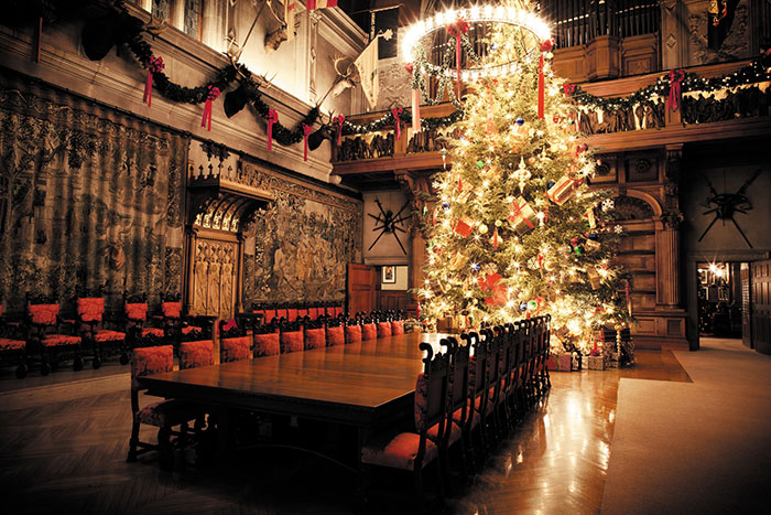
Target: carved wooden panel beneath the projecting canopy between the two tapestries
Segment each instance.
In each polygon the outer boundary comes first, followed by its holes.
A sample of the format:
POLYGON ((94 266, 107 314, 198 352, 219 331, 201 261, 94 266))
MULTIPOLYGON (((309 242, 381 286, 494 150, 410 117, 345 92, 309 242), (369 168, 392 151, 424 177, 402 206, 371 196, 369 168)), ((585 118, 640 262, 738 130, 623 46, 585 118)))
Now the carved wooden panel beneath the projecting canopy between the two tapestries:
POLYGON ((238 283, 239 244, 195 238, 192 312, 231 319, 238 283))

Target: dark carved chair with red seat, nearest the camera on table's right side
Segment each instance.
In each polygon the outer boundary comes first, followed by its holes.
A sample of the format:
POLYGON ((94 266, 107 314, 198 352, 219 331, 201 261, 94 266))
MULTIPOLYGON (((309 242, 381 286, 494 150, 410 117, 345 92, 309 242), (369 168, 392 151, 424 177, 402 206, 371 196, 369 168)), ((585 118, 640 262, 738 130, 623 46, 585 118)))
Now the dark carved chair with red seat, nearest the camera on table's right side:
MULTIPOLYGON (((377 434, 361 449, 361 463, 410 471, 413 474, 415 493, 423 504, 423 471, 439 461, 437 441, 444 438, 447 426, 448 356, 433 354, 428 343, 421 343, 425 353, 424 371, 415 380, 414 423, 415 430, 398 434, 377 434), (436 426, 436 441, 428 437, 428 429, 436 426)), ((442 469, 437 466, 439 495, 444 494, 442 469)))

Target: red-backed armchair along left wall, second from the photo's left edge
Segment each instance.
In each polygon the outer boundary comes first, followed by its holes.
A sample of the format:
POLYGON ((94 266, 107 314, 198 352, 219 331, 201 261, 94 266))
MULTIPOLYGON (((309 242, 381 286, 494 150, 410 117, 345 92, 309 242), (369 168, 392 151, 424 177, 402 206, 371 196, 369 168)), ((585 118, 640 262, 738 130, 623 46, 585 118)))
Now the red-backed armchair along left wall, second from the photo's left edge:
POLYGON ((41 375, 48 375, 64 354, 73 357, 73 368, 83 368, 80 356, 82 337, 72 334, 73 322, 64 322, 59 316, 59 304, 51 299, 34 299, 26 305, 30 342, 34 342, 41 353, 41 375), (70 333, 70 334, 67 334, 70 333))

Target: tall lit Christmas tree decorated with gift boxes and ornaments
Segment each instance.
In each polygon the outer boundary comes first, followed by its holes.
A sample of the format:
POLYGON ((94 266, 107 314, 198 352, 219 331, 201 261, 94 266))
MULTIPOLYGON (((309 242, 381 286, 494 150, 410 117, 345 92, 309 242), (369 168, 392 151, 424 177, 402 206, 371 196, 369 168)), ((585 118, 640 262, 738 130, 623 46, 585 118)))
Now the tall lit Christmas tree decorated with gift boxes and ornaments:
POLYGON ((553 42, 533 47, 532 33, 502 25, 486 56, 467 56, 477 71, 452 127, 452 165, 424 212, 422 315, 479 328, 549 313, 553 347, 588 352, 595 331, 631 320, 630 276, 613 262, 622 229, 610 193, 590 186, 596 158, 552 73, 553 42))

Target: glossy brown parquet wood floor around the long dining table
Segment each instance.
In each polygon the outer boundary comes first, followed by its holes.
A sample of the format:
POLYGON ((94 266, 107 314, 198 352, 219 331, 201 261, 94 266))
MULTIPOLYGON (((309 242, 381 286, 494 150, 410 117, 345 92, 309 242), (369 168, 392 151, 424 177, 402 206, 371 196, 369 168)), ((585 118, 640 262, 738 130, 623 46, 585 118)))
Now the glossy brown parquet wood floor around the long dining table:
MULTIPOLYGON (((643 356, 645 378, 685 380, 673 357, 643 356)), ((597 513, 625 373, 553 373, 543 406, 464 491, 452 492, 444 512, 597 513)), ((0 394, 0 416, 4 513, 355 512, 355 478, 307 455, 262 450, 194 464, 193 453, 181 452, 174 473, 161 472, 154 453, 126 463, 128 374, 0 394)), ((148 428, 141 437, 155 434, 148 428)))

